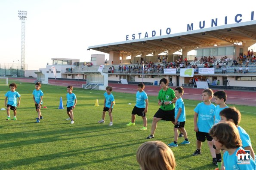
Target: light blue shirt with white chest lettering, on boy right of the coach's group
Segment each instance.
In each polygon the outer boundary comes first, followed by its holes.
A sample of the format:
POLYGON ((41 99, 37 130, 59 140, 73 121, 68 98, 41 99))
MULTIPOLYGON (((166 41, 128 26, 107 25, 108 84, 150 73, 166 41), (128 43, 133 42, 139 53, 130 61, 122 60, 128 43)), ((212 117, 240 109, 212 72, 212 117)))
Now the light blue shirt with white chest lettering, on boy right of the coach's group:
POLYGON ((215 107, 216 106, 212 103, 206 105, 204 102, 201 102, 194 108, 194 112, 198 114, 197 127, 200 132, 209 133, 210 129, 213 127, 215 107))

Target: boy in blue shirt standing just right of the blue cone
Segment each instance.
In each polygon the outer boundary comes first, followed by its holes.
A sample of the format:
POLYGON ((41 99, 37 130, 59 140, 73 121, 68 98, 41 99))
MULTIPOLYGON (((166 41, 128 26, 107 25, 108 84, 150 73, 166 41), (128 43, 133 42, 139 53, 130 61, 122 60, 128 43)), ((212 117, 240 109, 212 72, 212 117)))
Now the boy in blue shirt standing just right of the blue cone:
POLYGON ((68 86, 67 87, 67 114, 69 116, 69 119, 71 119, 71 124, 74 124, 74 114, 73 114, 73 109, 76 108, 77 104, 77 97, 76 95, 72 92, 73 91, 73 86, 68 86))

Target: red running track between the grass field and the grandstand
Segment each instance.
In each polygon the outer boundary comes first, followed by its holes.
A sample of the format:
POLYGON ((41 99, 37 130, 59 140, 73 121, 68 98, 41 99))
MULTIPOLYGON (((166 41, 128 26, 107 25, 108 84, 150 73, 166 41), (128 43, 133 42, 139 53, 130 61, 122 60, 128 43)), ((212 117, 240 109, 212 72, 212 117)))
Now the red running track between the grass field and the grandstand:
MULTIPOLYGON (((10 78, 24 82, 34 83, 34 80, 31 78, 10 78)), ((49 84, 56 85, 56 86, 68 86, 72 85, 74 87, 82 87, 82 84, 86 84, 85 81, 68 81, 68 80, 52 80, 49 79, 49 84)), ((136 94, 137 92, 137 85, 136 84, 115 84, 109 83, 109 86, 112 86, 115 92, 125 92, 136 94)), ((174 89, 175 87, 171 87, 174 89)), ((160 86, 145 86, 145 92, 148 95, 157 96, 160 90, 160 86)), ((219 89, 213 89, 216 92, 219 89)), ((203 89, 193 89, 193 88, 184 88, 184 95, 182 98, 184 99, 191 99, 191 100, 201 100, 203 89)), ((242 90, 225 90, 227 93, 227 104, 241 104, 241 105, 248 105, 248 106, 256 106, 256 92, 255 91, 242 91, 242 90)))

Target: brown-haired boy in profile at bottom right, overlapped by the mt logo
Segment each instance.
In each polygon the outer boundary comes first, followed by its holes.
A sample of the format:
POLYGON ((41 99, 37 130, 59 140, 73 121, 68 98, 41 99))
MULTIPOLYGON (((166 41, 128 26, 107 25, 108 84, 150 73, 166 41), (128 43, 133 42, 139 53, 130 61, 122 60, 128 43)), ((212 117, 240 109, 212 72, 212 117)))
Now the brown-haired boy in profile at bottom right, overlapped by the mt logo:
POLYGON ((217 123, 211 128, 210 135, 213 137, 216 149, 226 150, 223 155, 222 170, 255 170, 255 161, 242 147, 238 129, 233 122, 217 123))

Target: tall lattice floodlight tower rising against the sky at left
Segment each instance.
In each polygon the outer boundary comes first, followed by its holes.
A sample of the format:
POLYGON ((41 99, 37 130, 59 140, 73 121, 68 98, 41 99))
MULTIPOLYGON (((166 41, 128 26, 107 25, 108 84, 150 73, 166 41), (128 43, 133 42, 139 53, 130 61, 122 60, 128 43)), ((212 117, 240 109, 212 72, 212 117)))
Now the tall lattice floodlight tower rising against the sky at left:
POLYGON ((21 69, 25 69, 25 20, 27 19, 27 11, 18 11, 18 17, 22 21, 22 54, 21 69))

